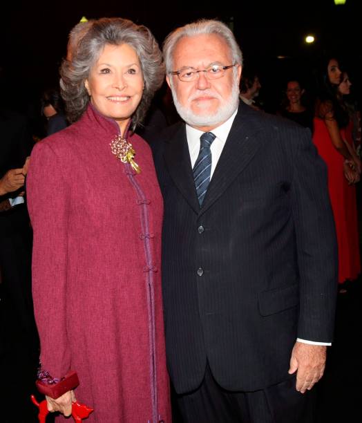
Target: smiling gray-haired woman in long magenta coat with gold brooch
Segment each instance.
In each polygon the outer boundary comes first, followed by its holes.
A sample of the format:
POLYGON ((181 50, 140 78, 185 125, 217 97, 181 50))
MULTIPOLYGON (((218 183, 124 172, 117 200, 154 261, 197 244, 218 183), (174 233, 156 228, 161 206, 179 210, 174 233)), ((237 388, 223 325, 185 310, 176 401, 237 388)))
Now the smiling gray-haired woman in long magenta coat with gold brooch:
POLYGON ((162 196, 133 132, 162 84, 162 57, 126 19, 91 21, 76 41, 61 65, 73 124, 37 144, 27 180, 37 385, 66 416, 77 397, 94 408, 89 422, 170 422, 162 196))

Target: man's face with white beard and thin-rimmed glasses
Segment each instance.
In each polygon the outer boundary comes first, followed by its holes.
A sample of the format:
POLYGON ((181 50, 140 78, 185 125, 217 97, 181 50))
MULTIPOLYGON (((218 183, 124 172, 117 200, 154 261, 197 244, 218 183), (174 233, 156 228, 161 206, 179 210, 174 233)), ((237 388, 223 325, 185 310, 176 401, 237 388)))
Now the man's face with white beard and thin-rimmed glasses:
MULTIPOLYGON (((230 48, 215 34, 183 37, 173 51, 173 71, 182 68, 206 69, 213 64, 233 64, 230 48)), ((238 106, 238 85, 241 66, 227 69, 219 79, 207 79, 204 72, 194 81, 184 82, 177 75, 168 75, 176 109, 191 126, 210 131, 227 120, 238 106), (235 97, 235 98, 234 98, 235 97), (232 109, 232 110, 231 110, 232 109), (185 115, 186 114, 186 115, 185 115)))

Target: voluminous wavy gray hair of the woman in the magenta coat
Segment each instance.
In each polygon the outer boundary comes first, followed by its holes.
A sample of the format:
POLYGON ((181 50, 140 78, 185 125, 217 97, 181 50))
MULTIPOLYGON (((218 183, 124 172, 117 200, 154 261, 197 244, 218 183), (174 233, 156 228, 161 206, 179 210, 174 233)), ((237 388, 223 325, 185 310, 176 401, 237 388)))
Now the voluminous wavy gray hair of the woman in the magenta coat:
MULTIPOLYGON (((135 50, 144 79, 142 100, 132 117, 131 129, 142 122, 149 109, 155 91, 164 79, 164 64, 160 48, 143 25, 136 25, 128 19, 102 18, 91 21, 85 26, 86 31, 77 41, 68 59, 64 59, 60 68, 61 96, 66 103, 66 114, 70 122, 77 121, 86 110, 90 97, 84 86, 90 70, 106 44, 128 44, 135 50)), ((73 28, 74 29, 74 28, 73 28)))

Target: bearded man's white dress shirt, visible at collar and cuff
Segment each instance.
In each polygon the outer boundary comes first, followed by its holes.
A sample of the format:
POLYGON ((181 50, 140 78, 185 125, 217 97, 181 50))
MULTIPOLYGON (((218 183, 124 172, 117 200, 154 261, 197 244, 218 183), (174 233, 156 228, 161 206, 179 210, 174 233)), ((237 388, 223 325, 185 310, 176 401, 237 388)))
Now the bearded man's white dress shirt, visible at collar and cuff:
MULTIPOLYGON (((211 144, 211 174, 210 180, 213 176, 213 172, 215 171, 216 165, 218 164, 218 160, 221 156, 222 149, 225 146, 225 142, 229 135, 231 125, 234 122, 236 113, 238 113, 238 109, 234 111, 234 113, 230 116, 230 118, 221 124, 220 126, 214 128, 212 131, 213 135, 216 135, 215 140, 211 144)), ((202 131, 199 129, 195 129, 192 126, 186 124, 186 136, 187 136, 187 145, 189 146, 189 153, 191 158, 191 166, 193 167, 196 163, 198 155, 200 153, 200 136, 203 134, 202 131)), ((299 342, 303 342, 304 344, 312 344, 312 345, 331 345, 330 342, 315 342, 315 341, 307 341, 306 339, 296 339, 299 342)))

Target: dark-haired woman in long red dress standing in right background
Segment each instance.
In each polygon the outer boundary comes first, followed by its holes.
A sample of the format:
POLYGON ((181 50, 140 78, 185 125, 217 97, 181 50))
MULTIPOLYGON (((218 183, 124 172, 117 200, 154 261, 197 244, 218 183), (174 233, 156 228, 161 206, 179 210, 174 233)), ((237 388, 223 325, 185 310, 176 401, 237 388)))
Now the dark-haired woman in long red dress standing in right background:
POLYGON ((330 59, 316 101, 313 142, 327 164, 328 189, 339 247, 339 283, 343 284, 356 279, 361 271, 354 187, 360 178, 361 161, 345 135, 350 119, 338 95, 341 75, 337 60, 330 59))

